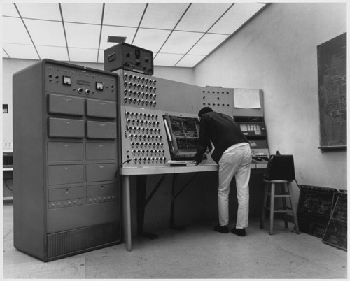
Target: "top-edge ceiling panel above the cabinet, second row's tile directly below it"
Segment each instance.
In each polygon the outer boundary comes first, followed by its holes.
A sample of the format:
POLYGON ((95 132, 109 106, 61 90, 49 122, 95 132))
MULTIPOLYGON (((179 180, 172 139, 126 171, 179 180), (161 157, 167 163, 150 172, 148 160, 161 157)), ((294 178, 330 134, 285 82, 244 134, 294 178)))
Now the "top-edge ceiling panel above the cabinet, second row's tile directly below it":
POLYGON ((102 3, 62 3, 61 7, 65 22, 101 24, 102 3))

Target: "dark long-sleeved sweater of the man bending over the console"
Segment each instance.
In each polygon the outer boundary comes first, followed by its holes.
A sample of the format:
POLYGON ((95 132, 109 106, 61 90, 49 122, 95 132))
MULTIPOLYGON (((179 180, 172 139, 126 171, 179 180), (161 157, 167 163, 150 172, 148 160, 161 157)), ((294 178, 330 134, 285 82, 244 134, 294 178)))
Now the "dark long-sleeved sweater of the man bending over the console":
POLYGON ((223 152, 225 152, 228 147, 237 143, 249 143, 232 117, 216 112, 209 112, 201 117, 200 137, 198 138, 197 154, 195 157, 197 161, 202 161, 203 154, 206 152, 207 147, 211 147, 210 140, 215 147, 211 157, 217 164, 223 152))

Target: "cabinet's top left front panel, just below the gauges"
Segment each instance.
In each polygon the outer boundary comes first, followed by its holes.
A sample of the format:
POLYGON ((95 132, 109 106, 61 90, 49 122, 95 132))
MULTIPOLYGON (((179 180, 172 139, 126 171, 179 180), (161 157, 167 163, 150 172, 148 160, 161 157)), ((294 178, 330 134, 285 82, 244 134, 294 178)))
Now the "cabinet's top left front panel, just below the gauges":
POLYGON ((48 112, 83 116, 84 99, 75 96, 48 94, 48 112))

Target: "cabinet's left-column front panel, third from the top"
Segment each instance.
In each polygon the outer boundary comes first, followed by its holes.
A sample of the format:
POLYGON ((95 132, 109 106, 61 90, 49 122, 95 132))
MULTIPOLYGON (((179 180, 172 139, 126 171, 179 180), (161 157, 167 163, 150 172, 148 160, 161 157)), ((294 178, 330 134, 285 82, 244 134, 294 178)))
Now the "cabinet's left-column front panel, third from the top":
POLYGON ((48 142, 48 161, 77 161, 83 159, 83 143, 48 142))

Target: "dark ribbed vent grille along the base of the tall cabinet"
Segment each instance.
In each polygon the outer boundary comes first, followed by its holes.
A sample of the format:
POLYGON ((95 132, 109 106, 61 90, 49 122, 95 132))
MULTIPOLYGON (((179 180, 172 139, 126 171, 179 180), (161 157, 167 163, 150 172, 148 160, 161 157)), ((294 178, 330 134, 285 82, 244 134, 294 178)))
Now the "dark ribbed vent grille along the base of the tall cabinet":
POLYGON ((111 222, 48 234, 48 259, 117 243, 120 240, 119 229, 119 222, 111 222))

